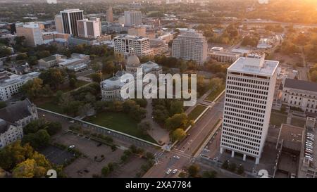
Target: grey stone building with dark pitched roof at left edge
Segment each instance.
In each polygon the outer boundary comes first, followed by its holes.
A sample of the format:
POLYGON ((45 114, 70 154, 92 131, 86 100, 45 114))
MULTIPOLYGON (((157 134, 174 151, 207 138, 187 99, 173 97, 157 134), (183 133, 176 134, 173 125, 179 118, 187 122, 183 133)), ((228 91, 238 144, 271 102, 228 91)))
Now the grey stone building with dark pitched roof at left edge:
POLYGON ((0 148, 23 137, 23 127, 37 120, 37 108, 25 99, 0 109, 0 148))

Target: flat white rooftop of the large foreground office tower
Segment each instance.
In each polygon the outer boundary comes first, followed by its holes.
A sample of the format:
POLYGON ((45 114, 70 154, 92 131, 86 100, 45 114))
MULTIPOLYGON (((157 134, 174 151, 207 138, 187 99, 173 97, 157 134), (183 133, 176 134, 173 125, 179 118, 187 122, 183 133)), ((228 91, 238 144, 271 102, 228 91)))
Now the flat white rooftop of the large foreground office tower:
POLYGON ((256 75, 272 76, 278 68, 277 60, 264 60, 261 58, 240 57, 228 68, 235 72, 250 72, 256 75))

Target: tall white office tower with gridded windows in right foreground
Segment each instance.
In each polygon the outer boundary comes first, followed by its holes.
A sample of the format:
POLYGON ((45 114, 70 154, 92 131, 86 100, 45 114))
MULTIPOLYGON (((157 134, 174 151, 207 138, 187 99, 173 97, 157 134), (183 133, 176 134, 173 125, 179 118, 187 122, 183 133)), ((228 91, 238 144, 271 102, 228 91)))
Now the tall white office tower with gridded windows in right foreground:
POLYGON ((278 61, 241 57, 227 72, 220 153, 259 164, 268 133, 278 61))

